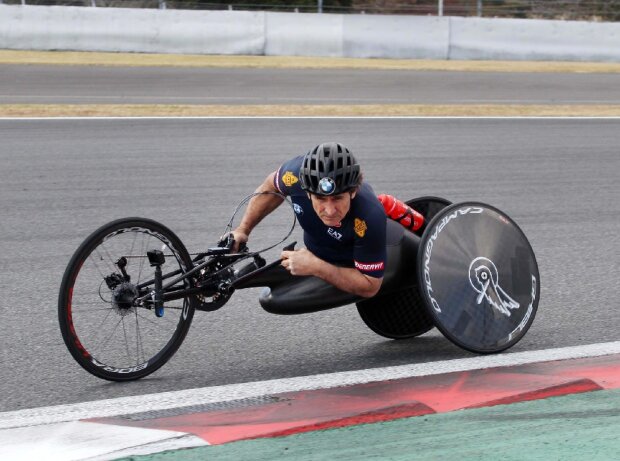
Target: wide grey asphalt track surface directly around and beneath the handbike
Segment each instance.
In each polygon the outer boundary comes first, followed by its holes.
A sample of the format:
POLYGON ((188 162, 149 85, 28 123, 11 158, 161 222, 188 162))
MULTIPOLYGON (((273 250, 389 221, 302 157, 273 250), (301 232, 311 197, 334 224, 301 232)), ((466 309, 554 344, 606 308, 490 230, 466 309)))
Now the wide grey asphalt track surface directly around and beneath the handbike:
MULTIPOLYGON (((2 120, 0 411, 471 356, 436 331, 384 340, 353 307, 273 316, 248 290, 197 314, 177 355, 148 379, 105 383, 70 358, 56 297, 89 232, 141 215, 204 248, 279 162, 328 139, 351 146, 377 192, 481 200, 521 225, 542 299, 514 351, 616 341, 619 127, 618 119, 2 120)), ((284 214, 274 219, 282 221, 272 229, 284 227, 284 214)))

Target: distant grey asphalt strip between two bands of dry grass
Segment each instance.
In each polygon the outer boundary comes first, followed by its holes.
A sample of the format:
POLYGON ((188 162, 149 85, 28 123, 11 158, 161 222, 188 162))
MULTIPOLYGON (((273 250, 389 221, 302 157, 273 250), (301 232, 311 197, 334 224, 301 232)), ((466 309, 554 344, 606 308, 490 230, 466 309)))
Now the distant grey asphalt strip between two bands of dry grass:
POLYGON ((620 104, 620 72, 0 64, 0 104, 620 104))

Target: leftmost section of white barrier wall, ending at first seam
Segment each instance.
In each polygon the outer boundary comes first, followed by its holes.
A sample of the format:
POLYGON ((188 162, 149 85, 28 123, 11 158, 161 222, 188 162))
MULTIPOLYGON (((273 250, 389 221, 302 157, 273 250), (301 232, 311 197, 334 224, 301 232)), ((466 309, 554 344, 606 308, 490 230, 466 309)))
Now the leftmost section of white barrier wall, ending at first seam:
POLYGON ((0 48, 263 54, 265 14, 0 5, 0 48))

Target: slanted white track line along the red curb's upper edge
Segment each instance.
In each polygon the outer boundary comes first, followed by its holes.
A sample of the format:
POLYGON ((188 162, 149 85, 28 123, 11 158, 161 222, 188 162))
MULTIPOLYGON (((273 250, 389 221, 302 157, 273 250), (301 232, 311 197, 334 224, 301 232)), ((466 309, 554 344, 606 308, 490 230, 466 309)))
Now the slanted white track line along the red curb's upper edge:
POLYGON ((0 429, 127 415, 284 392, 325 389, 414 376, 429 376, 441 373, 524 365, 552 360, 598 357, 611 354, 620 354, 620 341, 120 397, 95 402, 0 413, 0 429))

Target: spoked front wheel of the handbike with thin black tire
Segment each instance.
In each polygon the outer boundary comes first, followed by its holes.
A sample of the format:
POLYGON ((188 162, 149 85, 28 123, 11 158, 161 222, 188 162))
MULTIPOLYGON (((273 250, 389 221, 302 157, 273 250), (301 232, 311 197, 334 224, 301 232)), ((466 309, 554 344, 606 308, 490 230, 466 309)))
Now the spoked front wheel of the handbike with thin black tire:
MULTIPOLYGON (((65 270, 58 297, 62 337, 73 358, 99 378, 130 381, 147 376, 164 365, 185 339, 194 316, 194 297, 165 304, 163 317, 157 317, 145 306, 113 302, 105 281, 111 274, 120 277, 115 262, 128 257, 131 280, 126 290, 133 296, 137 284, 153 278, 146 258, 152 249, 165 254, 164 274, 192 267, 185 246, 167 227, 150 219, 125 218, 93 232, 65 270)), ((186 279, 179 287, 192 284, 186 279)))

